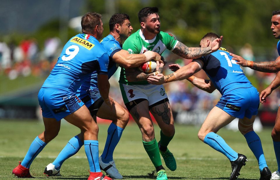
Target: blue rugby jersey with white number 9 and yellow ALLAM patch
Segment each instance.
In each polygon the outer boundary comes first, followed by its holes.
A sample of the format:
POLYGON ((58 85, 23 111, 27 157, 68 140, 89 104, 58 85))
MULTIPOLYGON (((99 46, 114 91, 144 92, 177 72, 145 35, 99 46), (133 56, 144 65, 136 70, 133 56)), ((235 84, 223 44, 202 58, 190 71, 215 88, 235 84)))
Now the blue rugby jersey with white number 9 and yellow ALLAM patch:
POLYGON ((93 71, 108 74, 108 63, 107 51, 95 37, 78 34, 65 44, 42 87, 76 92, 93 71))

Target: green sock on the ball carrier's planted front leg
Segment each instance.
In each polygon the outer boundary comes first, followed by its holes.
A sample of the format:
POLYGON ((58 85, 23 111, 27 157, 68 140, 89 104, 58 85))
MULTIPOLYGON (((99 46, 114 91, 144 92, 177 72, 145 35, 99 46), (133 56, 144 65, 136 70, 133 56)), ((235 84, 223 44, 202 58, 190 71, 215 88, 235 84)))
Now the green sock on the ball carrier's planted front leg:
POLYGON ((161 166, 161 159, 160 159, 160 152, 158 150, 158 146, 157 146, 157 140, 152 140, 150 142, 145 142, 142 141, 144 148, 148 154, 148 156, 150 157, 150 160, 152 161, 153 165, 155 167, 161 166))

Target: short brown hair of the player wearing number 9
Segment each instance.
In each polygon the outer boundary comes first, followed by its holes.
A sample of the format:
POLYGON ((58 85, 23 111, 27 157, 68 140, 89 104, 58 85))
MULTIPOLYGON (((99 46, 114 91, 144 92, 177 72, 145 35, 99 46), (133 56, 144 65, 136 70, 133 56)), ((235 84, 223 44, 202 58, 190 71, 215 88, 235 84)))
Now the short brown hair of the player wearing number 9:
POLYGON ((93 33, 95 26, 101 25, 101 17, 102 15, 95 12, 86 13, 81 18, 82 32, 83 33, 93 33))

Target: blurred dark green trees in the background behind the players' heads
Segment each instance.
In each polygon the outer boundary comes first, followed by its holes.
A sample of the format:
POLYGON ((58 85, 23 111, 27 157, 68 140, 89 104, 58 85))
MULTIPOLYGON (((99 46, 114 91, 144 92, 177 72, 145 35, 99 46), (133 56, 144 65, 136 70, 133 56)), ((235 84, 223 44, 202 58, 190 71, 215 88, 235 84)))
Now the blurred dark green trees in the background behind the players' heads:
MULTIPOLYGON (((272 35, 270 21, 272 11, 280 9, 279 0, 88 0, 81 15, 89 11, 101 13, 105 37, 109 33, 108 21, 114 13, 127 13, 133 32, 137 31, 140 28, 137 14, 146 6, 157 6, 161 30, 174 34, 188 46, 197 47, 204 34, 215 32, 224 36, 223 47, 240 49, 245 43, 250 43, 257 56, 276 47, 277 40, 272 35)), ((10 36, 15 42, 23 37, 34 37, 42 48, 46 38, 58 36, 60 23, 58 18, 53 19, 32 34, 17 32, 10 36)), ((67 26, 68 23, 64 24, 67 26)), ((68 28, 67 39, 77 33, 68 28)))

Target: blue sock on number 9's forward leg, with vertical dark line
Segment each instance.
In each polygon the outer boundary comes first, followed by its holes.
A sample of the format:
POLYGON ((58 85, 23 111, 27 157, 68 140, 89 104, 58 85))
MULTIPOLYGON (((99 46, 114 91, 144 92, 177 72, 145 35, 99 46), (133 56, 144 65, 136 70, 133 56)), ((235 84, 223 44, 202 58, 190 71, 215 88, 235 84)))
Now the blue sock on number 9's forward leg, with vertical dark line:
POLYGON ((101 172, 99 167, 98 141, 84 140, 85 154, 88 157, 90 172, 101 172))

